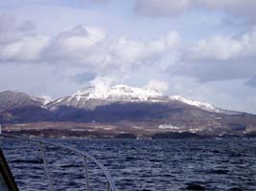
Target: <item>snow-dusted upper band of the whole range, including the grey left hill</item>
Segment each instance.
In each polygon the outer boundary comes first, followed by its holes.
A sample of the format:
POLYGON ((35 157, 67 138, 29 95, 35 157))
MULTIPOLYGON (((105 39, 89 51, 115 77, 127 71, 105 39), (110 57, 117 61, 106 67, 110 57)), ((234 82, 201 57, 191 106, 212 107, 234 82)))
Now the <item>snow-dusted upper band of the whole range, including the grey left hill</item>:
POLYGON ((197 107, 207 112, 227 115, 241 114, 222 110, 207 102, 191 100, 183 96, 164 96, 157 90, 136 88, 127 85, 116 85, 112 87, 89 86, 71 96, 56 100, 52 100, 49 96, 35 97, 12 91, 0 93, 0 110, 25 106, 39 106, 50 110, 56 110, 59 106, 95 109, 97 106, 109 105, 115 102, 178 102, 183 105, 197 107))

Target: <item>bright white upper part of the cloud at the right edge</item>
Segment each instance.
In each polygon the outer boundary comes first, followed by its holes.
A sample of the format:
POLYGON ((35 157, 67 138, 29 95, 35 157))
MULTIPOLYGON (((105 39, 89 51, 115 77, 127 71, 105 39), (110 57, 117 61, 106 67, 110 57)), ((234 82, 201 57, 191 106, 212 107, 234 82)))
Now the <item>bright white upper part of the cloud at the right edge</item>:
POLYGON ((234 60, 248 59, 256 54, 256 28, 241 36, 217 35, 201 39, 188 51, 192 60, 234 60))

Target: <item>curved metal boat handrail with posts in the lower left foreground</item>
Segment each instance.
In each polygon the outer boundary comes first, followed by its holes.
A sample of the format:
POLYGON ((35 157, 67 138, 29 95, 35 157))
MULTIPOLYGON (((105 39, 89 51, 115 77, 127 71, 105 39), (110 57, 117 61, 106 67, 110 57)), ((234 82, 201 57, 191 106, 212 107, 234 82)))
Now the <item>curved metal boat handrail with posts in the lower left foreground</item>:
POLYGON ((107 191, 117 191, 116 186, 114 184, 114 181, 112 180, 110 174, 106 170, 104 164, 102 162, 100 162, 99 160, 95 159, 90 154, 81 152, 81 151, 76 150, 76 149, 71 148, 71 147, 63 146, 61 144, 56 144, 56 143, 53 143, 53 142, 48 142, 48 141, 39 140, 39 139, 35 139, 35 138, 23 138, 23 137, 12 136, 12 135, 8 135, 8 134, 1 134, 1 133, 0 133, 0 138, 17 138, 17 139, 23 139, 23 140, 36 142, 36 143, 39 144, 39 148, 40 148, 40 151, 41 151, 41 156, 42 156, 42 159, 43 159, 43 162, 44 162, 44 168, 45 168, 48 180, 49 180, 49 188, 50 188, 51 191, 54 191, 54 186, 53 186, 52 179, 50 177, 48 164, 47 164, 47 161, 46 161, 46 158, 45 158, 45 151, 43 150, 43 147, 42 147, 43 144, 44 145, 56 146, 56 147, 59 147, 59 148, 66 149, 66 150, 72 151, 74 153, 77 153, 78 155, 81 155, 81 157, 83 159, 83 164, 84 164, 84 175, 85 175, 85 180, 86 180, 86 190, 87 191, 90 191, 89 179, 88 179, 88 169, 87 169, 88 168, 87 167, 87 159, 90 159, 91 161, 96 163, 100 167, 100 169, 103 171, 103 173, 105 174, 106 190, 107 191))

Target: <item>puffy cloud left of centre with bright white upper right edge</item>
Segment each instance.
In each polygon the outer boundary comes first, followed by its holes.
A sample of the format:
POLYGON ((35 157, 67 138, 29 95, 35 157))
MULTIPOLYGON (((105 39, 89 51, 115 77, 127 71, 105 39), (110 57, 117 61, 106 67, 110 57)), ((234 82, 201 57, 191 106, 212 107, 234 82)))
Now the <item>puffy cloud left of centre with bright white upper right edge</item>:
MULTIPOLYGON (((105 39, 105 32, 100 29, 77 26, 51 38, 43 50, 42 59, 48 62, 93 65, 103 60, 97 56, 97 47, 105 39)), ((100 45, 99 45, 100 46, 100 45)))

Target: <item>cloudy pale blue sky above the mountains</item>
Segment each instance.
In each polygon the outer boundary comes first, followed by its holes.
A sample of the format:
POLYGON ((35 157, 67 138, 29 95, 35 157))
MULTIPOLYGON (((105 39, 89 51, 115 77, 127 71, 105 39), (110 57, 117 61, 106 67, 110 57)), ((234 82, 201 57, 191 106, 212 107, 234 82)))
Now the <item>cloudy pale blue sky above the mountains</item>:
POLYGON ((0 1, 0 92, 127 84, 256 114, 255 0, 0 1))

